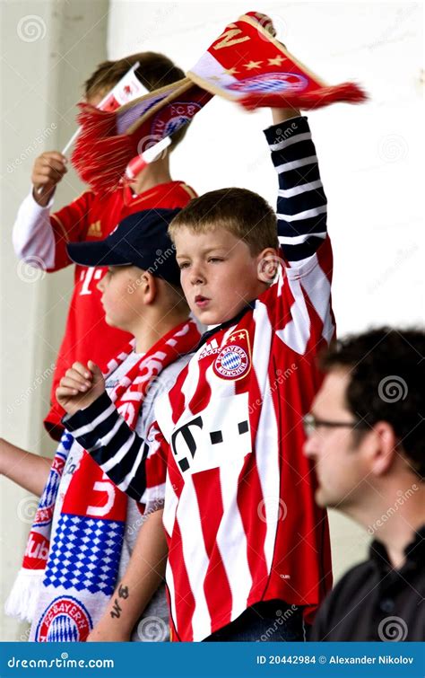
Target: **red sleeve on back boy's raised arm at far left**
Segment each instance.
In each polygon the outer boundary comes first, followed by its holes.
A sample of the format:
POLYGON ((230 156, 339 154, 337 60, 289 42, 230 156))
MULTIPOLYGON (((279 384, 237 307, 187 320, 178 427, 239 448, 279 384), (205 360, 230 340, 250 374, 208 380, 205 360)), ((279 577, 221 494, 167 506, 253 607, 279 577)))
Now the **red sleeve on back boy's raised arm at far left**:
POLYGON ((50 216, 56 247, 55 265, 48 269, 49 272, 65 269, 65 266, 73 263, 68 257, 66 243, 85 240, 93 198, 94 193, 86 190, 79 198, 50 216))

